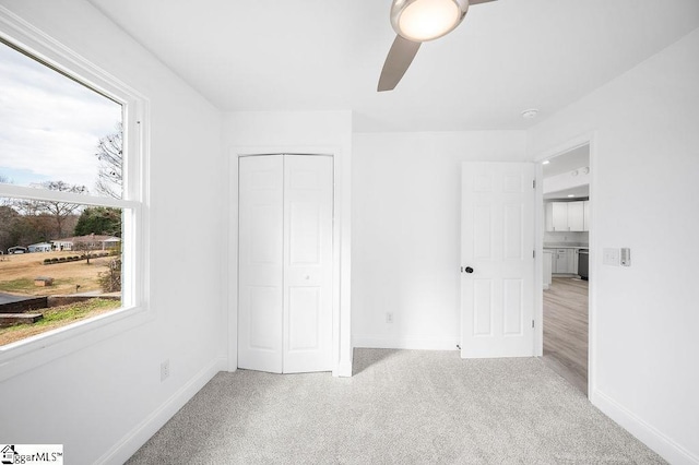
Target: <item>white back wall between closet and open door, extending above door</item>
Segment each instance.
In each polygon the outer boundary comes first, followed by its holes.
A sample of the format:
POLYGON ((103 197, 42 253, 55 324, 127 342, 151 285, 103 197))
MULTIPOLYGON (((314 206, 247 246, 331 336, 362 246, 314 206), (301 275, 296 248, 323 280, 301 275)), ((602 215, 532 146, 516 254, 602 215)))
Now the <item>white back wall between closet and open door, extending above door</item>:
POLYGON ((354 345, 455 349, 461 163, 523 162, 525 133, 358 133, 353 148, 354 345))

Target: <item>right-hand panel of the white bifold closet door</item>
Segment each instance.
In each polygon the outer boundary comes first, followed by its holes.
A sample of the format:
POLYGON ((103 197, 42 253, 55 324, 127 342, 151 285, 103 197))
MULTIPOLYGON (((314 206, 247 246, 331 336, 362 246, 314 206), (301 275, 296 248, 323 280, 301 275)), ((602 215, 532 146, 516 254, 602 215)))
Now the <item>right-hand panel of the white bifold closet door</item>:
POLYGON ((332 369, 333 164, 284 156, 284 372, 332 369))

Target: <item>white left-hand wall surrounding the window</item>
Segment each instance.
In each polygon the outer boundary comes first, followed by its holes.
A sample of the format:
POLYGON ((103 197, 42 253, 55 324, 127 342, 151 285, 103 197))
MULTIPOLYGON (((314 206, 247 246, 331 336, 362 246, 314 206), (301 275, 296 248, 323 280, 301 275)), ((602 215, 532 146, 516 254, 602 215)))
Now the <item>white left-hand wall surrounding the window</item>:
POLYGON ((223 258, 188 250, 223 241, 221 115, 90 3, 1 3, 151 102, 155 319, 0 383, 3 441, 62 443, 67 463, 122 463, 224 366, 223 258))

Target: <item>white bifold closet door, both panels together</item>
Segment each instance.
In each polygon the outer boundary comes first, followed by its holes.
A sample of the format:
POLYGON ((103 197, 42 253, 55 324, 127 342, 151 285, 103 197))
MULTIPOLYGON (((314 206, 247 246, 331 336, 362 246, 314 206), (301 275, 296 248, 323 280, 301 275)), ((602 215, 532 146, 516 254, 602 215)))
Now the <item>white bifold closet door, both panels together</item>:
POLYGON ((333 160, 239 158, 238 367, 332 369, 333 160))

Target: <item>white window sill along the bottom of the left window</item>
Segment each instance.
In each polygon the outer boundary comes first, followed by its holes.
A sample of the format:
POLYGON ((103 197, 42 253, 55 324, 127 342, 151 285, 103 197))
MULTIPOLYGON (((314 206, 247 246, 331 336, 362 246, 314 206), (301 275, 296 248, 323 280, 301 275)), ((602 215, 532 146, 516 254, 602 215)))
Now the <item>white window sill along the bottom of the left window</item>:
POLYGON ((123 308, 0 347, 0 382, 155 320, 146 307, 123 308))

